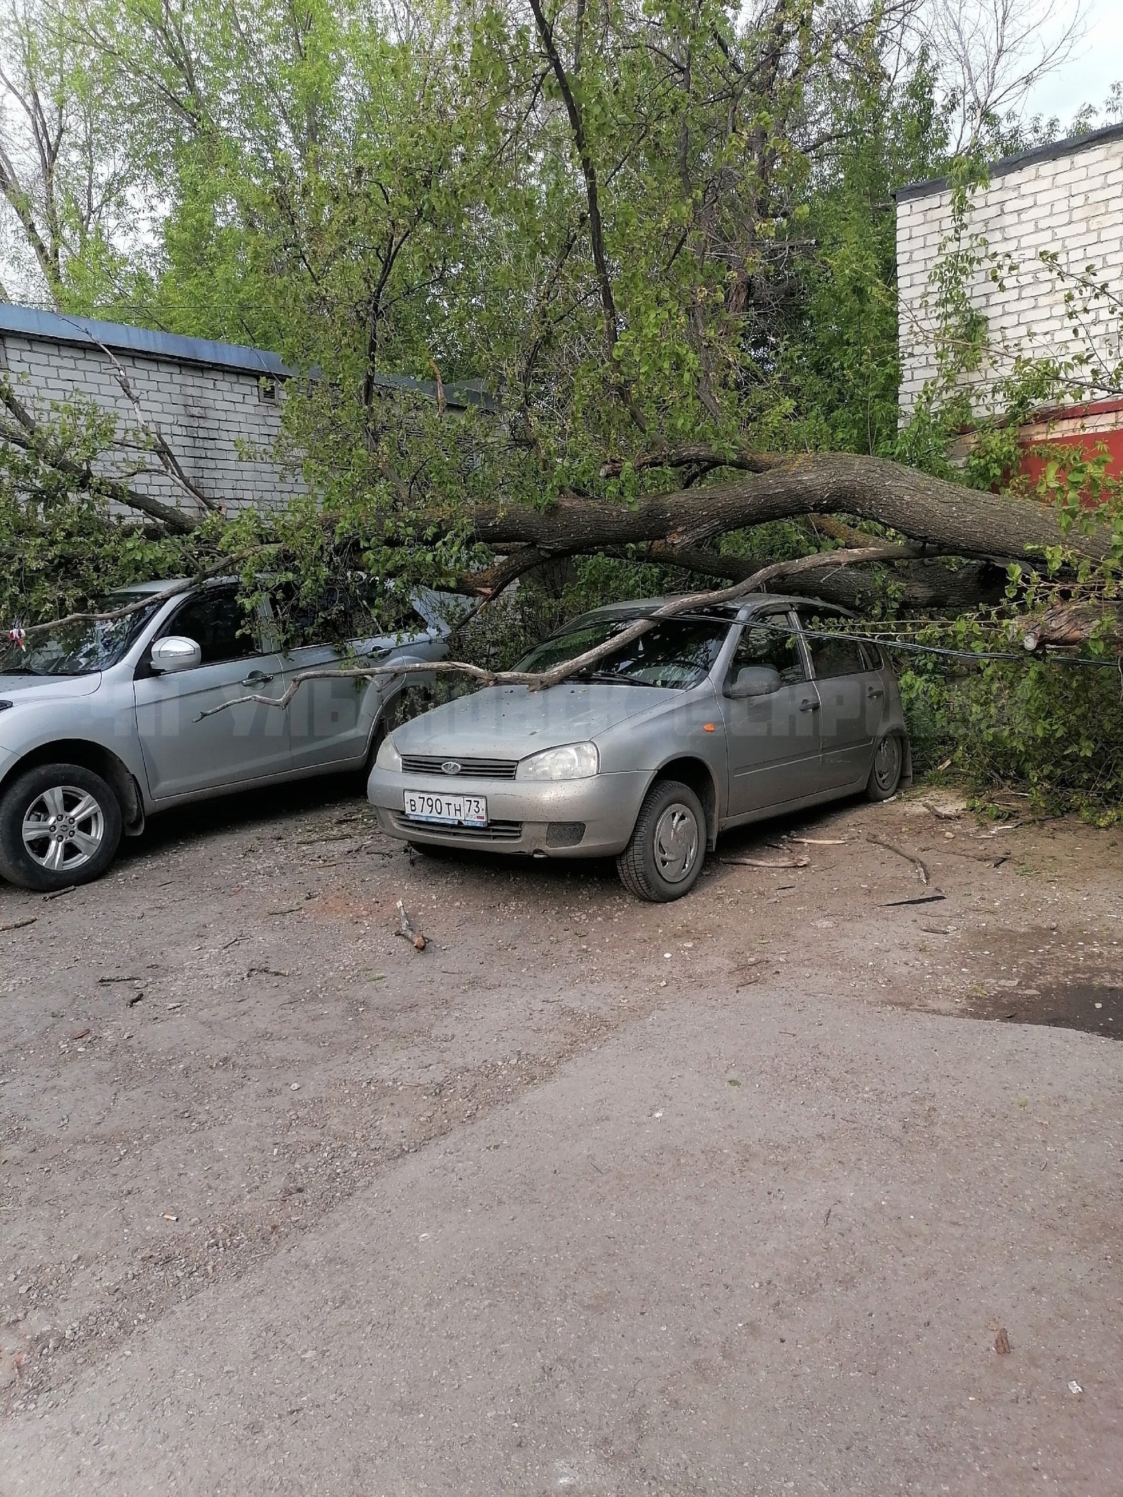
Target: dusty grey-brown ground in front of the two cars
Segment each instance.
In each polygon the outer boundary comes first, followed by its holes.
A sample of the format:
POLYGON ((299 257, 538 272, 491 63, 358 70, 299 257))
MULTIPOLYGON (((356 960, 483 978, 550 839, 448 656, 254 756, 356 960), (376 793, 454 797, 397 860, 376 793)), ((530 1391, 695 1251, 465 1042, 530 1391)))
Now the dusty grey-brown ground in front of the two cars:
POLYGON ((1117 1497, 1122 853, 913 790, 644 906, 320 783, 0 886, 0 1493, 1117 1497))

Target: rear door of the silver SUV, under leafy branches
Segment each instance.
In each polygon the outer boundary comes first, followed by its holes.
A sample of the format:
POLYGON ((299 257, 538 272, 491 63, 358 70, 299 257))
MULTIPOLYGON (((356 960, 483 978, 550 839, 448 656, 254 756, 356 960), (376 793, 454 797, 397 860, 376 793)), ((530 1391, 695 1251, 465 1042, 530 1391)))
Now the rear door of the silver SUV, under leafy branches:
MULTIPOLYGON (((439 660, 445 654, 443 639, 436 638, 412 608, 407 614, 398 633, 355 639, 350 651, 386 662, 439 660)), ((284 680, 287 683, 298 672, 317 666, 331 669, 343 665, 346 654, 337 645, 299 645, 284 656, 284 680)), ((404 680, 383 675, 373 680, 337 677, 305 681, 287 713, 293 768, 331 769, 362 763, 382 704, 404 680)))

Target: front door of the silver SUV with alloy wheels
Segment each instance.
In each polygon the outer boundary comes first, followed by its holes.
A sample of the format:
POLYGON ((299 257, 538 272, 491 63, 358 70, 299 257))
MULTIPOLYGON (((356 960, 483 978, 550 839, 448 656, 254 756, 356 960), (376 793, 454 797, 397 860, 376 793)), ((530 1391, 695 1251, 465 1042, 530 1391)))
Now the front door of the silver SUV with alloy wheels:
POLYGON ((280 654, 267 653, 259 618, 247 621, 235 587, 211 587, 187 599, 159 638, 193 639, 202 663, 156 675, 150 656, 136 668, 133 699, 144 768, 153 799, 223 789, 286 774, 290 768, 287 714, 243 704, 214 716, 211 708, 247 692, 280 696, 280 654), (249 627, 249 633, 247 633, 249 627))

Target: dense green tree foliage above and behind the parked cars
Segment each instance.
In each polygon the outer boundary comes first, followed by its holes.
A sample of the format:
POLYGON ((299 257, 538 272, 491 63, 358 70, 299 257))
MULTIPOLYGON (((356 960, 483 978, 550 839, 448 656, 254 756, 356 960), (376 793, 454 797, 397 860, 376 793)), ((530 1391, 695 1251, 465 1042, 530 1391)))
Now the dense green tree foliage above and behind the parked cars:
MULTIPOLYGON (((311 605, 331 576, 491 594, 551 557, 599 549, 550 612, 638 579, 737 579, 747 558, 849 545, 855 516, 859 537, 924 539, 892 499, 921 479, 886 460, 966 481, 979 513, 1009 525, 1005 545, 991 525, 985 543, 937 548, 952 552, 937 587, 907 561, 877 573, 876 612, 927 597, 958 615, 964 587, 993 606, 985 563, 1006 560, 1009 597, 978 615, 981 630, 1038 600, 1114 597, 1111 485, 1093 515, 1074 504, 1087 472, 1047 475, 1038 499, 1059 524, 1029 497, 1000 510, 987 497, 1009 479, 1011 413, 1077 371, 1006 370, 966 473, 948 466, 963 377, 987 344, 970 281, 994 268, 966 204, 985 153, 1041 126, 997 120, 985 90, 972 103, 949 88, 910 0, 34 6, 9 10, 0 42, 15 58, 9 109, 30 130, 22 156, 0 163, 0 189, 28 263, 70 311, 280 352, 293 374, 277 455, 301 469, 308 499, 225 521, 222 496, 201 496, 198 524, 175 522, 106 481, 121 430, 75 403, 28 413, 9 385, 9 614, 34 620, 108 582, 217 557, 247 597, 268 567, 311 605), (21 42, 21 15, 43 45, 21 42), (955 156, 951 132, 967 118, 955 156), (901 430, 891 192, 945 171, 964 211, 934 284, 940 377, 901 430), (434 398, 388 388, 386 374, 430 382, 434 398), (487 400, 452 415, 457 383, 487 400), (801 454, 836 457, 815 469, 801 454), (741 518, 635 540, 612 521, 591 542, 600 519, 584 537, 573 521, 559 539, 573 516, 623 521, 660 500, 687 515, 695 496, 698 513, 725 503, 741 518)), ((1099 281, 1071 292, 1075 317, 1099 281)), ((165 434, 142 413, 126 436, 166 466, 165 434)), ((969 687, 997 714, 1012 698, 990 680, 969 687)), ((1032 716, 1044 696, 1018 701, 1032 716)))

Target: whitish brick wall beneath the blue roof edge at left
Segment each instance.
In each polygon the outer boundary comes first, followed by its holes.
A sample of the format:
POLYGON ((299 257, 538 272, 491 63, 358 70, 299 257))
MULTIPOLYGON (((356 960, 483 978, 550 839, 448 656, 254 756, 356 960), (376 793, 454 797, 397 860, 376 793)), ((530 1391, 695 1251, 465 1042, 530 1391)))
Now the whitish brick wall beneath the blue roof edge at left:
MULTIPOLYGON (((52 401, 85 395, 114 413, 118 439, 127 442, 132 433, 136 440, 136 415, 100 349, 15 332, 3 334, 3 349, 15 392, 33 412, 43 413, 52 401)), ((247 504, 280 507, 302 493, 298 473, 267 457, 255 461, 241 455, 247 443, 267 454, 280 433, 280 404, 261 398, 255 374, 123 350, 114 350, 114 356, 145 421, 159 427, 187 478, 210 499, 225 503, 229 513, 247 504)), ((133 488, 201 513, 153 452, 138 454, 118 445, 106 457, 105 472, 124 478, 138 461, 154 472, 129 478, 133 488)))

